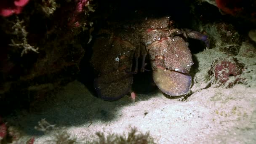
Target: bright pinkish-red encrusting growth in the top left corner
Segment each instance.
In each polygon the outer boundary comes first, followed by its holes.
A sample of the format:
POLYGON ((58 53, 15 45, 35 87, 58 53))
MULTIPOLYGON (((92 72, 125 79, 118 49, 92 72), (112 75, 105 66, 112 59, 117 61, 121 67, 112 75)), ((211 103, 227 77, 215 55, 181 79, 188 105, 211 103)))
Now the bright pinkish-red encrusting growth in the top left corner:
POLYGON ((19 14, 28 2, 29 0, 1 0, 0 15, 6 17, 11 16, 13 13, 19 14))

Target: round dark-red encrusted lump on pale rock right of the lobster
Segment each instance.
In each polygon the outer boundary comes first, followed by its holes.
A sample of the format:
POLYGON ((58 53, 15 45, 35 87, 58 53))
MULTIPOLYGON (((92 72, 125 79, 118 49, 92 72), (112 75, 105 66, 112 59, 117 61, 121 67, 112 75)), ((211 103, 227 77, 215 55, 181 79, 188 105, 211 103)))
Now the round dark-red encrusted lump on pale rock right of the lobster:
POLYGON ((227 83, 227 87, 232 86, 235 83, 239 83, 242 79, 239 75, 244 70, 244 64, 240 63, 235 58, 227 58, 227 59, 220 59, 215 62, 214 65, 214 75, 216 80, 219 81, 221 84, 227 83), (231 81, 229 79, 234 77, 231 81))

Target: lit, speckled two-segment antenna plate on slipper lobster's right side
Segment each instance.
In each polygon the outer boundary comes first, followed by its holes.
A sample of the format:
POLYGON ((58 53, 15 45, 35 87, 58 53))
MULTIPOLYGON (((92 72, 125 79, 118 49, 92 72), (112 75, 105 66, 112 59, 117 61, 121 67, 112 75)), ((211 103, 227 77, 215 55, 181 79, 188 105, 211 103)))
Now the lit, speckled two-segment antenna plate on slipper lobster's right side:
POLYGON ((168 37, 149 45, 153 80, 170 96, 187 94, 192 78, 188 74, 192 55, 182 37, 168 37))

